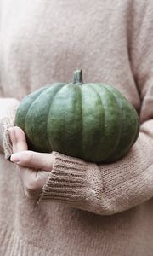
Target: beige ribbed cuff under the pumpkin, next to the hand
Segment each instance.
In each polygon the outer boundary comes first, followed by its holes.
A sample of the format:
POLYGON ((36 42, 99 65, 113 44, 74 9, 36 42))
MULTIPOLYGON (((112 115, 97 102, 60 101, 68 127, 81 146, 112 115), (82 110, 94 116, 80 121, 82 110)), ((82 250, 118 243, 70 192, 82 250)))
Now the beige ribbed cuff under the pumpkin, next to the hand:
POLYGON ((82 201, 85 189, 87 164, 83 160, 71 158, 65 154, 53 152, 54 166, 49 173, 48 181, 42 188, 40 201, 67 201, 76 203, 82 201))

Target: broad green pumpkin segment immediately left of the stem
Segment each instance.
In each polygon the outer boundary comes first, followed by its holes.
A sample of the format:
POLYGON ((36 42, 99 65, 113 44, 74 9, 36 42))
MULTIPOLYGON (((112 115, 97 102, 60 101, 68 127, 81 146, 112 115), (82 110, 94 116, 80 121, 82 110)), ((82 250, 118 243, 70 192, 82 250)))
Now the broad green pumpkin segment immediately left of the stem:
POLYGON ((58 91, 58 93, 54 97, 53 106, 52 108, 50 108, 51 119, 49 122, 50 122, 50 131, 51 132, 53 131, 51 137, 53 141, 54 150, 59 151, 60 153, 63 153, 63 154, 70 154, 71 156, 74 156, 76 154, 77 157, 80 157, 80 154, 79 154, 80 148, 81 148, 80 137, 82 136, 82 131, 80 131, 80 128, 79 128, 78 113, 80 113, 79 107, 81 108, 81 103, 79 103, 80 106, 78 106, 78 103, 77 103, 78 101, 76 101, 75 99, 76 96, 80 97, 80 94, 81 94, 81 90, 78 87, 79 86, 77 84, 70 83, 70 84, 65 84, 65 86, 58 91), (60 105, 60 102, 62 102, 61 105, 60 105), (57 106, 57 104, 59 104, 58 108, 55 107, 57 106), (54 115, 55 112, 56 112, 56 116, 54 115), (77 115, 74 116, 74 113, 77 113, 77 115), (74 116, 75 122, 73 122, 73 116, 74 116), (74 130, 69 129, 70 126, 73 127, 74 130), (79 131, 78 131, 78 128, 79 128, 79 131), (78 143, 78 137, 79 137, 79 143, 78 143), (68 145, 70 144, 74 149, 75 153, 70 152, 70 149, 68 147, 68 145))

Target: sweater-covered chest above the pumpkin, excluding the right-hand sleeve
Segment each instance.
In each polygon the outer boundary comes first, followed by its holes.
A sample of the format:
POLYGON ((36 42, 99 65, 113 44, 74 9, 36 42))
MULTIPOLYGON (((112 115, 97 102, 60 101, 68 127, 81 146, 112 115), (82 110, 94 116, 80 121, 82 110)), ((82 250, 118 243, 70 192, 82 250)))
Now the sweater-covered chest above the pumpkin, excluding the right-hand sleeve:
POLYGON ((0 96, 21 99, 53 82, 112 84, 139 109, 129 61, 130 1, 2 1, 0 96))

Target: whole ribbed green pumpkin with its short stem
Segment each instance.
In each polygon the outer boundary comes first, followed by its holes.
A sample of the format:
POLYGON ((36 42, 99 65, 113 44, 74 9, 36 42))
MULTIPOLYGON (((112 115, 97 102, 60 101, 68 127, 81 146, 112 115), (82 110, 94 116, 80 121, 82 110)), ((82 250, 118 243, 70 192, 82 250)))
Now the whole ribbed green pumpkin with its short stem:
POLYGON ((54 83, 26 96, 15 125, 26 133, 30 150, 58 151, 82 160, 119 160, 139 135, 132 104, 108 84, 83 84, 82 70, 73 83, 54 83))

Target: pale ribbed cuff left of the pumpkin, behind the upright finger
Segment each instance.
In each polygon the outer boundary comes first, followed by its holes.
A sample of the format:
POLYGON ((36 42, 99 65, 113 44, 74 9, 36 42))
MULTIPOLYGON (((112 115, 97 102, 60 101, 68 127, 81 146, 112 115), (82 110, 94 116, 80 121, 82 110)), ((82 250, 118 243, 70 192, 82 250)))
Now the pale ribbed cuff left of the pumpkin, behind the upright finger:
POLYGON ((3 137, 3 151, 6 159, 10 159, 12 151, 12 143, 10 142, 8 129, 14 126, 16 110, 19 106, 18 101, 12 102, 8 108, 6 117, 2 119, 2 137, 3 137))

